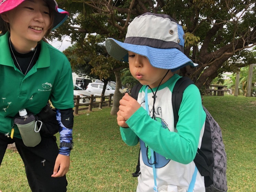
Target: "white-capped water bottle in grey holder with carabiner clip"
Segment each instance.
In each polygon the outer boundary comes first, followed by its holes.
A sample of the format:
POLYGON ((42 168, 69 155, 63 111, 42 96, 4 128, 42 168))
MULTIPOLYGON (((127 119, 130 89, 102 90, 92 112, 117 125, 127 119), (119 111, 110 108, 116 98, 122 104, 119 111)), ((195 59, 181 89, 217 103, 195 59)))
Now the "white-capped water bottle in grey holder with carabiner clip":
MULTIPOLYGON (((14 123, 17 125, 23 143, 28 147, 34 147, 41 142, 40 128, 37 127, 37 121, 33 114, 28 114, 26 109, 19 111, 18 117, 14 118, 14 123)), ((42 125, 42 122, 41 122, 42 125)))

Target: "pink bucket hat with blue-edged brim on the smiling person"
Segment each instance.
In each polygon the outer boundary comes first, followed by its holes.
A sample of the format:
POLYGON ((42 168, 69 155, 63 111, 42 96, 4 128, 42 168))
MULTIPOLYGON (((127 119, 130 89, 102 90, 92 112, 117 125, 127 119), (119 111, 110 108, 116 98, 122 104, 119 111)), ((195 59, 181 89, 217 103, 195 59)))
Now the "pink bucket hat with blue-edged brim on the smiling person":
MULTIPOLYGON (((0 0, 0 14, 6 11, 10 11, 17 7, 25 0, 0 0)), ((54 10, 53 11, 53 28, 52 30, 59 27, 68 17, 69 13, 58 8, 58 5, 55 0, 46 0, 49 4, 49 7, 54 10)), ((3 25, 3 20, 0 17, 0 26, 3 25)))

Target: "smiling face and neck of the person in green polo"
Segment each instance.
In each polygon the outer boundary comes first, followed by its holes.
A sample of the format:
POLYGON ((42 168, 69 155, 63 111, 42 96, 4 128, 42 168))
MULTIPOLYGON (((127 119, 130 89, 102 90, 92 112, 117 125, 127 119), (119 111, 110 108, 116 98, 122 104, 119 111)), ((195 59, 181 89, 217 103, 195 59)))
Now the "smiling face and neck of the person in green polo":
POLYGON ((14 44, 36 45, 50 28, 49 7, 43 0, 26 0, 2 15, 10 24, 14 44))

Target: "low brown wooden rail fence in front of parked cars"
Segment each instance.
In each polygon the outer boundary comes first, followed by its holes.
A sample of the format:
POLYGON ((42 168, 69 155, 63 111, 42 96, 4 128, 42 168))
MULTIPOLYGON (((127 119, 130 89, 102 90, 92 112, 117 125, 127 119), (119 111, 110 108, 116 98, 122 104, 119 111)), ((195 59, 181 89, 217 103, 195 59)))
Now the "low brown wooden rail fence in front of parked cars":
POLYGON ((76 97, 74 97, 74 101, 75 101, 75 109, 74 109, 74 113, 77 115, 78 111, 82 111, 82 110, 88 110, 88 111, 92 111, 92 108, 101 108, 103 106, 108 106, 110 107, 113 101, 113 94, 110 95, 103 95, 101 94, 101 96, 94 96, 91 95, 90 97, 82 97, 82 99, 90 99, 89 103, 79 103, 80 100, 80 96, 77 95, 76 97), (93 102, 94 99, 96 98, 100 98, 99 102, 93 102), (104 98, 104 99, 103 99, 104 98), (79 106, 85 106, 85 107, 79 107, 79 106))

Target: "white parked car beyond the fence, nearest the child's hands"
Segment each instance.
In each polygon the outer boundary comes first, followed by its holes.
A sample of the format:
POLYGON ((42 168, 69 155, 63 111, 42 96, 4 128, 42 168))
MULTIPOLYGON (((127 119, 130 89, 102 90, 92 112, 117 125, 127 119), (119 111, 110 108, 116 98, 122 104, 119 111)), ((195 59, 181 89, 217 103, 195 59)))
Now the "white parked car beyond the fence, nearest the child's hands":
MULTIPOLYGON (((101 95, 102 90, 103 90, 103 86, 104 84, 102 83, 89 83, 86 91, 91 92, 94 95, 101 95)), ((106 90, 105 90, 105 95, 110 95, 110 94, 114 94, 115 89, 109 85, 107 85, 106 90)))

